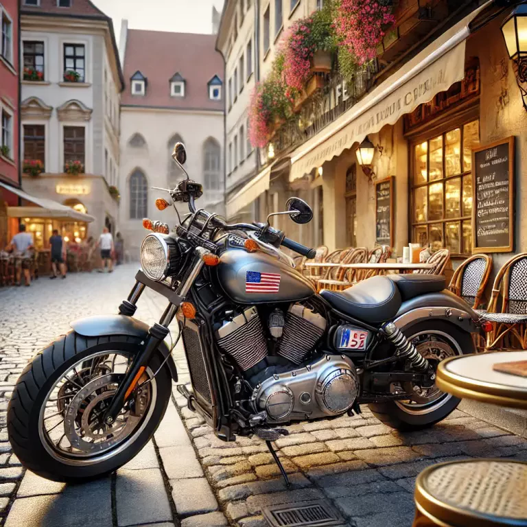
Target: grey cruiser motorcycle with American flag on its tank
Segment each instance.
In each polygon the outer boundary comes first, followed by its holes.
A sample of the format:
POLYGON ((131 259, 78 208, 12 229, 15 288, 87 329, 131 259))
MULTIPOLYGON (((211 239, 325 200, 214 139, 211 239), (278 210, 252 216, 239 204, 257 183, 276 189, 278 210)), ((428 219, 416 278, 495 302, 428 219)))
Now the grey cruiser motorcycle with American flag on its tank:
MULTIPOLYGON (((434 384, 441 360, 475 350, 478 315, 445 290, 444 277, 377 276, 342 292, 316 292, 281 250, 315 251, 266 223, 229 224, 196 209, 202 186, 186 174, 156 200, 187 203, 172 231, 144 220, 141 269, 119 314, 71 323, 27 365, 8 408, 14 454, 44 478, 79 482, 124 465, 150 440, 178 374, 165 343, 174 318, 191 384, 177 386, 188 408, 223 441, 272 441, 288 424, 360 413, 399 430, 430 427, 459 400, 434 384), (145 288, 168 305, 149 327, 134 318, 145 288)), ((309 205, 290 198, 298 223, 309 205)), ((178 213, 179 217, 179 213, 178 213)), ((175 344, 174 344, 175 345, 175 344)), ((281 467, 282 469, 282 467, 281 467)), ((284 478, 285 471, 282 469, 284 478)))

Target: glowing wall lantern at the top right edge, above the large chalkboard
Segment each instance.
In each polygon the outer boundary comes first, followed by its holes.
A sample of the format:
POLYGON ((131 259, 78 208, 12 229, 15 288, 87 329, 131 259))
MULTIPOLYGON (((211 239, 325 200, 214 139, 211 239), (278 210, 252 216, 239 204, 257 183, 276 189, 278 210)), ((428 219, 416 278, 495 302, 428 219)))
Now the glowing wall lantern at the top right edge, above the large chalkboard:
POLYGON ((508 58, 515 63, 516 82, 522 93, 524 108, 527 110, 527 5, 522 3, 502 23, 502 33, 508 51, 508 58))

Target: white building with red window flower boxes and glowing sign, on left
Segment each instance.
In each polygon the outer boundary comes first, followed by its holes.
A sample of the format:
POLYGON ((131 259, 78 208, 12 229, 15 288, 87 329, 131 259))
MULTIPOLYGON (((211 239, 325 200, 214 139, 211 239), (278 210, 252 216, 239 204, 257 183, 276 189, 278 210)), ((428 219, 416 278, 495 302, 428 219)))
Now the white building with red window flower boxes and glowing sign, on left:
MULTIPOLYGON (((23 188, 95 218, 63 227, 72 242, 115 233, 124 82, 111 19, 89 0, 21 1, 23 188)), ((45 246, 51 222, 29 220, 45 246)))

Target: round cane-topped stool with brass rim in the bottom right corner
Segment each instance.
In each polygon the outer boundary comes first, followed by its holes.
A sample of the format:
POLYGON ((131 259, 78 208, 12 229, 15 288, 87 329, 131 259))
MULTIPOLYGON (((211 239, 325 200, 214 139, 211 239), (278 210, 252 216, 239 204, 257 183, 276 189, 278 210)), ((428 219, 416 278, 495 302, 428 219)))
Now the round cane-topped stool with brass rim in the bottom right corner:
POLYGON ((413 527, 527 526, 527 463, 469 459, 432 465, 415 482, 413 527))

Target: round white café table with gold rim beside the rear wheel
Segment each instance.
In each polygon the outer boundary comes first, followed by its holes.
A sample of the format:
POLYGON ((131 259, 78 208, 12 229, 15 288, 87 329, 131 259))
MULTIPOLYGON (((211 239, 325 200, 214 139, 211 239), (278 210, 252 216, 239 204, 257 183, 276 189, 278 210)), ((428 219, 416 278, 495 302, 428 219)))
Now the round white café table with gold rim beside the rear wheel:
POLYGON ((443 360, 437 369, 436 385, 456 397, 527 410, 527 377, 493 368, 508 362, 527 363, 527 351, 497 351, 443 360))

